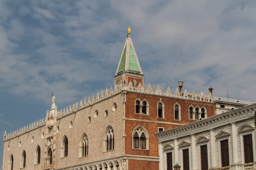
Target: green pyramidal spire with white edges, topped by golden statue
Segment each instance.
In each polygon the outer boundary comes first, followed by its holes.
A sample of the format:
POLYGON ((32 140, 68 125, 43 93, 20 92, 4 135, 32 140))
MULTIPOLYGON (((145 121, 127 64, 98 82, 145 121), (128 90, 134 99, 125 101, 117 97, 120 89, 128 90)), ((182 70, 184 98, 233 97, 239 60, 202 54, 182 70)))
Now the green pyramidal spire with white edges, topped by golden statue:
POLYGON ((131 29, 128 29, 128 34, 125 41, 125 46, 122 51, 122 55, 119 61, 119 65, 116 70, 116 75, 121 74, 124 71, 133 72, 137 74, 143 74, 140 68, 140 63, 136 55, 134 45, 131 41, 130 35, 131 29))

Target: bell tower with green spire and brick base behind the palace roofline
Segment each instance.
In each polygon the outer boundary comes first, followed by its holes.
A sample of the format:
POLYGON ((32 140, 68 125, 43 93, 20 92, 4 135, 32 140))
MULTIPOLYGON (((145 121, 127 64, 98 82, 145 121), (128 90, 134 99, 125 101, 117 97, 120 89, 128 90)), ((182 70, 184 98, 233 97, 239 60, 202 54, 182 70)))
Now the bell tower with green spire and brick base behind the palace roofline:
POLYGON ((119 81, 125 80, 126 85, 132 82, 134 86, 141 84, 143 86, 144 74, 140 68, 140 63, 131 40, 131 27, 128 28, 128 34, 125 40, 125 46, 116 70, 115 85, 119 81))

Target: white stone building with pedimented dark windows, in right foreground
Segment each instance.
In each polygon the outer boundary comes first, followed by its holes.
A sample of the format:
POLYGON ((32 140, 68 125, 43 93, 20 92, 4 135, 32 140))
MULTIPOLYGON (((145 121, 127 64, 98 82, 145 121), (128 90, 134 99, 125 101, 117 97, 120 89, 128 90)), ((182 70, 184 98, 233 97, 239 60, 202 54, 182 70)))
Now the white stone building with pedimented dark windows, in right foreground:
POLYGON ((256 169, 256 104, 227 111, 155 135, 159 139, 159 169, 256 169))

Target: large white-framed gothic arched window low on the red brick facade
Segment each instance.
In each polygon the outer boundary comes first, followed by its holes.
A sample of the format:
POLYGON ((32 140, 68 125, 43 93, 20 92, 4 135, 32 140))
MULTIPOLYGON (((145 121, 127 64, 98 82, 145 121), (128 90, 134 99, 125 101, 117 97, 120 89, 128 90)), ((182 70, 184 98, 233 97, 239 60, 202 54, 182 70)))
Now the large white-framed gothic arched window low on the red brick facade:
POLYGON ((147 132, 142 127, 137 127, 133 132, 133 147, 138 149, 148 149, 147 132))

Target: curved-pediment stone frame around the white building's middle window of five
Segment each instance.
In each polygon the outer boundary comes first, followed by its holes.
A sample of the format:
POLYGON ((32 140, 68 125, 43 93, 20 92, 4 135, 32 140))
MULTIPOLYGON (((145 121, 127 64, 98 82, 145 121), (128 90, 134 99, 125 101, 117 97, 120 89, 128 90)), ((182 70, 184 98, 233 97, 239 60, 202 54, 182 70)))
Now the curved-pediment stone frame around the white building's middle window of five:
POLYGON ((201 170, 201 146, 207 145, 207 159, 208 159, 208 168, 210 167, 210 158, 209 158, 209 138, 207 136, 199 136, 195 142, 198 145, 198 167, 201 170), (201 140, 200 140, 201 139, 201 140))

